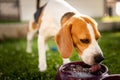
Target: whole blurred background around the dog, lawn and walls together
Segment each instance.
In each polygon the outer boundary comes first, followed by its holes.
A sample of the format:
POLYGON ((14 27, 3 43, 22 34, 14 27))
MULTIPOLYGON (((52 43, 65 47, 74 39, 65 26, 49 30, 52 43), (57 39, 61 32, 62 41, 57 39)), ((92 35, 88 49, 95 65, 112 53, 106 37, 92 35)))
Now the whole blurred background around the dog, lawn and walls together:
MULTIPOLYGON (((54 80, 62 64, 54 41, 48 41, 48 69, 38 70, 37 38, 33 52, 26 53, 29 20, 48 0, 0 0, 0 80, 54 80)), ((103 64, 110 74, 120 74, 120 0, 65 0, 80 13, 93 17, 101 32, 99 45, 105 56, 103 64)), ((72 61, 80 60, 74 51, 72 61)))

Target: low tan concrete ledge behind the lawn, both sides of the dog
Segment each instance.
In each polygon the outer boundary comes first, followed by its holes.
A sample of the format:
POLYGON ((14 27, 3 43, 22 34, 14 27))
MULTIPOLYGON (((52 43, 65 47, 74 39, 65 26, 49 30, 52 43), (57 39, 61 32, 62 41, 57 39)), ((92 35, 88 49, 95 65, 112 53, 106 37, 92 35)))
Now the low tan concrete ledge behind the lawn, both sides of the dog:
MULTIPOLYGON (((26 37, 28 23, 0 24, 0 40, 6 38, 26 37)), ((120 22, 98 23, 100 31, 120 30, 120 22)))

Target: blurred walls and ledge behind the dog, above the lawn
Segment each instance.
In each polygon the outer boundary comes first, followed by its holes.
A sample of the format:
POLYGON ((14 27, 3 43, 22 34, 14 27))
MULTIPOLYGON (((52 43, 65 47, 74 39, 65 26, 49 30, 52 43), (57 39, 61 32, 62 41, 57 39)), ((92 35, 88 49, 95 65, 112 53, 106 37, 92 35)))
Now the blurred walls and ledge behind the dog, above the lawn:
MULTIPOLYGON (((97 19, 101 31, 119 28, 120 23, 117 22, 120 18, 120 0, 66 1, 80 13, 97 19), (113 21, 110 17, 114 17, 113 21), (106 27, 103 27, 103 24, 106 27)), ((33 17, 38 2, 38 5, 42 6, 47 3, 47 0, 0 0, 0 39, 25 36, 27 22, 33 17), (8 26, 3 23, 12 24, 8 26)))

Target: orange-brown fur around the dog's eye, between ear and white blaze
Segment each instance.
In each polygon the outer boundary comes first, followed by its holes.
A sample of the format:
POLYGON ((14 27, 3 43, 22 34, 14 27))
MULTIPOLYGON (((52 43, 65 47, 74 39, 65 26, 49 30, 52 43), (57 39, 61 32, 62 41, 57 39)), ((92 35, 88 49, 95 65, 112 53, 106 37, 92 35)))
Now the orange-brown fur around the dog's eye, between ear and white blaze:
POLYGON ((91 37, 89 30, 87 28, 87 24, 82 18, 75 18, 72 26, 73 27, 71 33, 72 33, 73 43, 78 53, 82 55, 83 51, 91 43, 91 37), (84 44, 80 41, 80 39, 89 39, 90 42, 88 44, 84 44))

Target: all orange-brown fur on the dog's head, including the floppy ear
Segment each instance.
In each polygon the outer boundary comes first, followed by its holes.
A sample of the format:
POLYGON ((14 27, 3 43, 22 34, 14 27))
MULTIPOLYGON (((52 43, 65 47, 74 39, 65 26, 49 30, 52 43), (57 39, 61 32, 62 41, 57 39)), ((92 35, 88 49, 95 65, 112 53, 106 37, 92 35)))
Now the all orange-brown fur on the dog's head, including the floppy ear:
POLYGON ((79 55, 90 45, 91 36, 87 28, 87 23, 93 26, 96 38, 99 38, 98 30, 96 29, 94 21, 87 17, 71 17, 68 21, 62 23, 62 29, 56 36, 56 43, 60 54, 63 58, 69 58, 72 55, 75 47, 79 55), (80 39, 88 39, 89 43, 84 44, 80 39))

